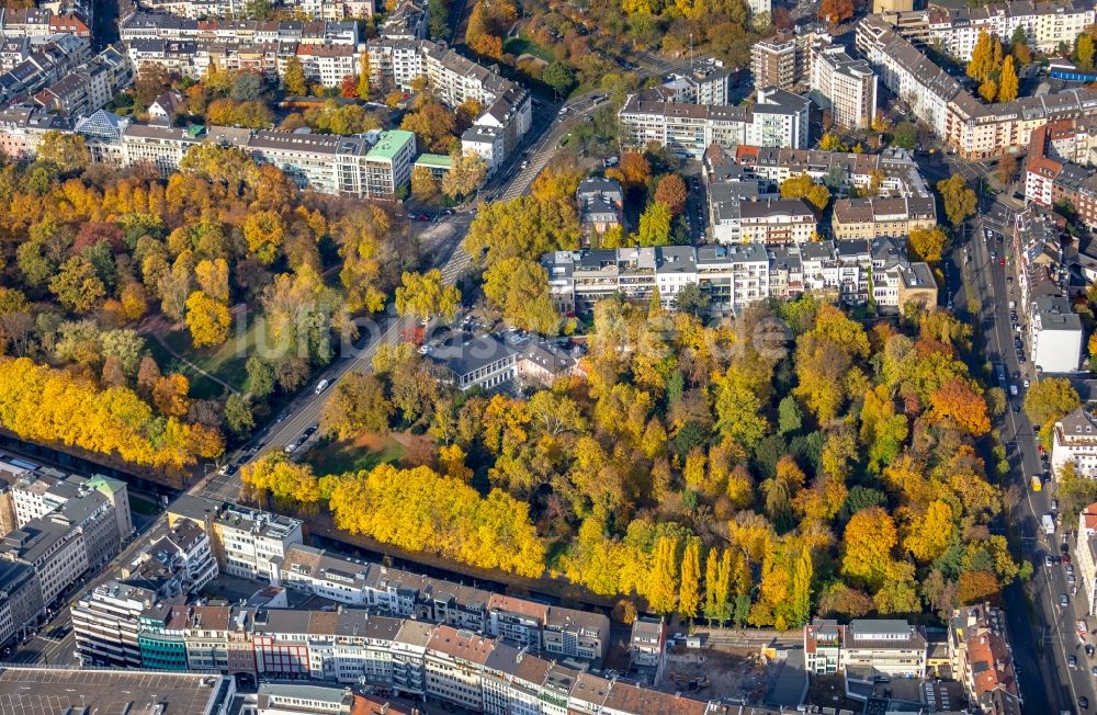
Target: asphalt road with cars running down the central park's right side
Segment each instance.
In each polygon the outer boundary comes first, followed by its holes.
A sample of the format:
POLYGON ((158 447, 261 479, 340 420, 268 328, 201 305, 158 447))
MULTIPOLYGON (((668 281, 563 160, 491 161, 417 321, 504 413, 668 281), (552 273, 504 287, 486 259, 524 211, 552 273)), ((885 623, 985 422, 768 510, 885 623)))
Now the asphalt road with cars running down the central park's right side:
MULTIPOLYGON (((969 163, 959 168, 965 175, 972 169, 977 171, 977 164, 969 163)), ((971 262, 965 264, 964 276, 972 283, 982 303, 980 325, 986 359, 992 363, 1002 363, 1007 382, 1018 387, 1018 396, 1008 398, 1009 407, 999 421, 999 429, 1002 439, 1007 444, 1011 467, 1008 481, 1019 486, 1025 495, 1014 510, 1011 521, 1022 532, 1024 556, 1031 561, 1034 576, 1031 603, 1020 585, 1013 585, 1005 591, 1013 655, 1019 672, 1026 712, 1079 712, 1079 696, 1097 704, 1094 678, 1089 672, 1094 661, 1086 657, 1074 625, 1077 618, 1085 617, 1085 603, 1081 593, 1078 598, 1070 595, 1062 565, 1044 565, 1045 556, 1059 556, 1063 541, 1062 530, 1049 537, 1043 534, 1040 525, 1040 517, 1051 511, 1055 485, 1054 481, 1048 481, 1038 492, 1029 488, 1029 478, 1041 474, 1043 466, 1039 458, 1034 430, 1021 408, 1025 396, 1021 381, 1028 378, 1034 383, 1037 376, 1031 362, 1020 364, 1014 348, 1013 339, 1016 333, 1009 320, 1008 302, 1019 300, 1019 288, 1015 287, 1017 276, 1014 273, 1017 262, 1013 257, 1010 235, 1007 234, 1002 242, 996 240, 1000 232, 997 229, 1006 228, 1002 226, 1002 216, 1008 216, 1008 212, 999 204, 991 207, 988 214, 994 215, 997 220, 979 217, 972 222, 974 231, 966 243, 971 262), (989 242, 984 232, 986 228, 994 230, 994 238, 989 242), (991 251, 996 253, 998 260, 991 259, 991 251), (1003 266, 1000 260, 1004 257, 1006 264, 1003 266), (1007 282, 1007 275, 1013 275, 1013 282, 1007 282), (1019 374, 1019 379, 1014 377, 1015 373, 1019 374), (1017 411, 1015 406, 1019 408, 1017 411), (1060 605, 1063 594, 1068 597, 1065 609, 1060 605), (1077 659, 1077 669, 1067 665, 1067 658, 1072 655, 1077 659)), ((963 265, 964 251, 958 250, 955 254, 957 265, 963 265)), ((1003 387, 1007 389, 1008 397, 1008 388, 1003 387)), ((1071 529, 1070 524, 1064 526, 1071 529)), ((1093 640, 1090 637, 1090 642, 1093 640)))

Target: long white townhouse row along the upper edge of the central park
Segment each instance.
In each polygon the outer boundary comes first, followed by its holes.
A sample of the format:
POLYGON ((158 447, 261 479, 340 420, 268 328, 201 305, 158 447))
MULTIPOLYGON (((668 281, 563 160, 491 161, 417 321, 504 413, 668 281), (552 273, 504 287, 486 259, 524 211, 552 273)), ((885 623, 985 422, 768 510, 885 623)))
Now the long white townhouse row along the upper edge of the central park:
POLYGON ((937 303, 929 265, 907 259, 904 238, 555 251, 541 263, 553 302, 568 315, 587 314, 612 295, 646 303, 656 291, 672 308, 689 284, 700 287, 715 313, 805 291, 847 305, 903 309, 937 303))

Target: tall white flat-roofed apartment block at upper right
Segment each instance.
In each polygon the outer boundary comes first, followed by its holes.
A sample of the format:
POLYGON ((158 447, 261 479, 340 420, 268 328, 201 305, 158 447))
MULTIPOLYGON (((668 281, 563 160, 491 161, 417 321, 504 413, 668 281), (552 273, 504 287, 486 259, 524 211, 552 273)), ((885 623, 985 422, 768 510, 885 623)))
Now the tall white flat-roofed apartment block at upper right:
POLYGON ((863 59, 853 59, 840 45, 812 47, 808 86, 830 103, 830 117, 840 127, 867 129, 877 113, 877 75, 863 59))

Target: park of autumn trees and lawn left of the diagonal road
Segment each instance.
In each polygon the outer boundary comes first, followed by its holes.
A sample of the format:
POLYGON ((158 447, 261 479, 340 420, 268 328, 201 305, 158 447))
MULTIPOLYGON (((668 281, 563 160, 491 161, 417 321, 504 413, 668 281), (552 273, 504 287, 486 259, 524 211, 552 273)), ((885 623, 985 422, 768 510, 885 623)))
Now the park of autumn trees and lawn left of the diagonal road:
POLYGON ((212 145, 165 180, 47 134, 35 161, 0 164, 0 423, 173 485, 419 262, 389 209, 212 145))

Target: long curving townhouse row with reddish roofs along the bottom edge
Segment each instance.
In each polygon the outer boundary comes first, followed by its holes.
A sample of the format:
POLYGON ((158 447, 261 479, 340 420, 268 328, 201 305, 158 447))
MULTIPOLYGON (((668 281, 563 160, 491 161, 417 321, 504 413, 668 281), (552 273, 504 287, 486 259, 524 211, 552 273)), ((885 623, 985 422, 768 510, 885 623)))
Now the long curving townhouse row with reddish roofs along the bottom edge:
MULTIPOLYGON (((126 614, 131 622, 133 613, 126 614)), ((133 652, 128 626, 125 637, 133 652)), ((180 598, 165 599, 137 614, 136 652, 146 669, 373 685, 499 715, 700 715, 708 708, 546 660, 501 638, 343 608, 186 605, 180 598)))

